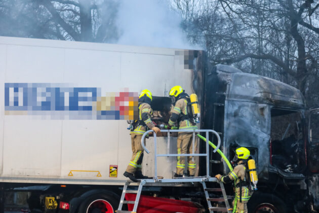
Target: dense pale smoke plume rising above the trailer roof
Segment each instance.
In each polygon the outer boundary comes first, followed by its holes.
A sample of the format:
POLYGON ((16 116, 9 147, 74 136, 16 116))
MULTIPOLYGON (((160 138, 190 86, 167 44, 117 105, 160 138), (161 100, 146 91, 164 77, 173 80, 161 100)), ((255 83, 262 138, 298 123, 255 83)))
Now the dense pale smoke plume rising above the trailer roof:
POLYGON ((166 0, 124 0, 119 4, 116 26, 118 44, 200 49, 189 44, 181 17, 166 0))

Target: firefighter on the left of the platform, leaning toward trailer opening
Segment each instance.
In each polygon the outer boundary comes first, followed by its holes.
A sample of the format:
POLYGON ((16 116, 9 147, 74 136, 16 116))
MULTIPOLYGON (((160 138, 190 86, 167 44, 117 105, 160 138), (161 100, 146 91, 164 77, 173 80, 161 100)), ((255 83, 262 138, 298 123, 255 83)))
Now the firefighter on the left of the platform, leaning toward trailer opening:
POLYGON ((136 122, 134 122, 134 128, 130 132, 133 155, 123 175, 129 177, 129 179, 134 182, 137 182, 137 179, 149 178, 142 174, 141 164, 144 155, 144 150, 141 145, 142 135, 148 129, 152 129, 156 134, 161 132, 159 128, 155 127, 155 124, 150 119, 152 114, 152 109, 150 107, 151 101, 152 93, 149 90, 144 89, 140 93, 138 99, 139 119, 136 122))

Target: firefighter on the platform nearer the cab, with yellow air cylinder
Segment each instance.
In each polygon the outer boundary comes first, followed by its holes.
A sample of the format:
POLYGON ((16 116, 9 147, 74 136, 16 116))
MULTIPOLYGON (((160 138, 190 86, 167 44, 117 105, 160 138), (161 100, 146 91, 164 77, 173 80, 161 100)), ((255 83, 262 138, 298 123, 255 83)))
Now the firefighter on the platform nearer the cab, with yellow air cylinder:
MULTIPOLYGON (((172 98, 171 117, 169 120, 169 128, 171 126, 179 126, 179 129, 197 129, 197 126, 191 122, 189 117, 187 99, 188 94, 181 86, 172 87, 169 93, 172 98)), ((193 133, 192 132, 178 132, 177 137, 177 154, 189 154, 193 152, 192 146, 193 133)), ((195 138, 194 149, 196 150, 197 140, 195 138)), ((194 150, 194 151, 195 151, 194 150)), ((187 157, 188 168, 187 174, 194 176, 196 163, 191 156, 187 157)), ((174 177, 182 177, 185 170, 185 157, 177 157, 176 173, 174 177)))

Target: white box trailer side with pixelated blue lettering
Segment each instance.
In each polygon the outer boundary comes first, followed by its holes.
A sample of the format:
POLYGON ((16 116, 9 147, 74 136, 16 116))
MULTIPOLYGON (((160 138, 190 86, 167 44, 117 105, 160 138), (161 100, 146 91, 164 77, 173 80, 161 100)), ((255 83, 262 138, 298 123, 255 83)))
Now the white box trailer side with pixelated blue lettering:
MULTIPOLYGON (((0 37, 0 182, 122 186, 138 93, 149 89, 162 103, 175 85, 196 92, 194 53, 0 37)), ((166 137, 157 143, 158 153, 168 151, 166 137)), ((146 144, 152 150, 151 138, 146 144)), ((152 162, 144 156, 145 175, 152 162)), ((171 178, 176 159, 157 165, 171 178)))

